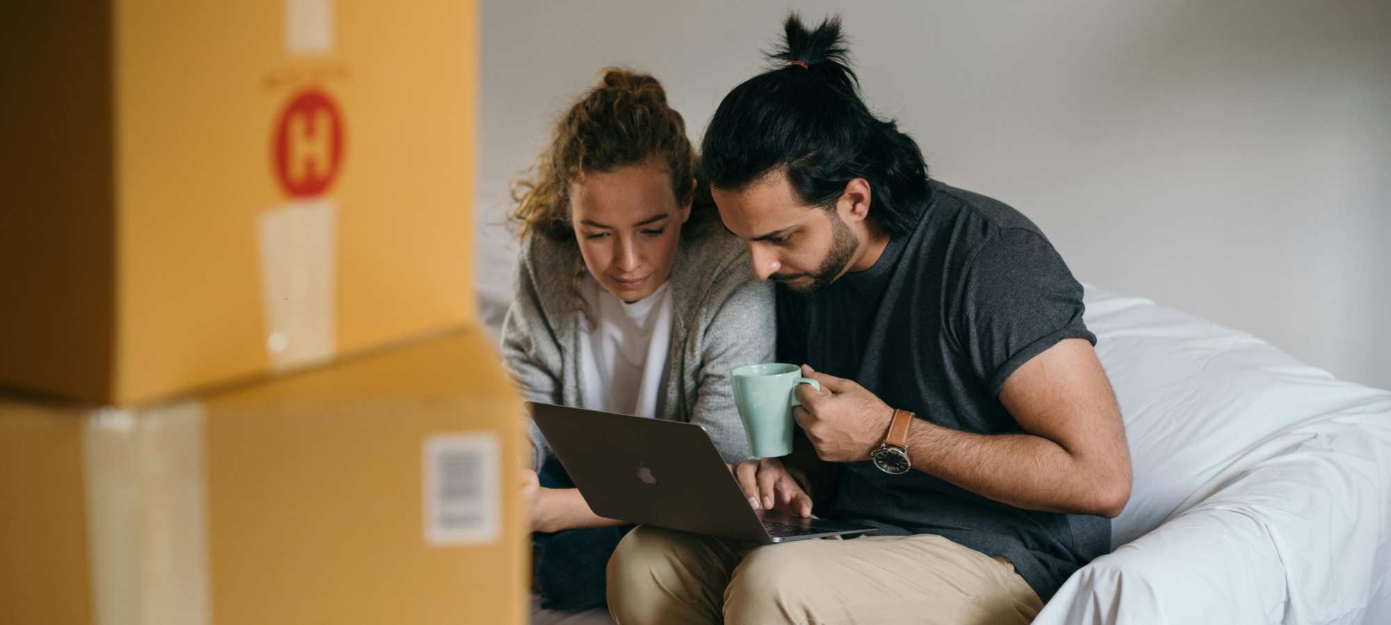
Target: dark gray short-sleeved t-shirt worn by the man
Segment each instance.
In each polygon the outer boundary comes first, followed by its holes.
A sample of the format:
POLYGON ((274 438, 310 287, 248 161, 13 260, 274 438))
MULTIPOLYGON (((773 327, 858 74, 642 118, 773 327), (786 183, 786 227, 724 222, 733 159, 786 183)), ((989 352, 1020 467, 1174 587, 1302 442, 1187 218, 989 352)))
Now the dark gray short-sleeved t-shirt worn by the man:
MULTIPOLYGON (((808 296, 778 288, 778 360, 853 379, 942 426, 1021 432, 1000 386, 1063 339, 1096 343, 1082 324, 1082 285, 1014 208, 931 185, 914 231, 890 238, 874 267, 808 296)), ((818 512, 1003 556, 1045 601, 1110 549, 1106 518, 1021 510, 921 471, 887 475, 868 461, 844 465, 818 512)))

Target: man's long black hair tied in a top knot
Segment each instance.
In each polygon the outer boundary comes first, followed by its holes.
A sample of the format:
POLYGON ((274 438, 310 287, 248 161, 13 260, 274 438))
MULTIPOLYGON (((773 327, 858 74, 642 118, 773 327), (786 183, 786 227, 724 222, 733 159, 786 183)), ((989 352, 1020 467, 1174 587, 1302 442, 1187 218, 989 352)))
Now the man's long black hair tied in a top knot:
POLYGON ((705 129, 701 158, 716 189, 744 189, 783 168, 807 204, 832 208, 854 178, 869 181, 869 218, 889 235, 912 229, 926 204, 928 165, 893 119, 860 99, 840 18, 814 31, 797 14, 783 24, 775 65, 734 88, 705 129))

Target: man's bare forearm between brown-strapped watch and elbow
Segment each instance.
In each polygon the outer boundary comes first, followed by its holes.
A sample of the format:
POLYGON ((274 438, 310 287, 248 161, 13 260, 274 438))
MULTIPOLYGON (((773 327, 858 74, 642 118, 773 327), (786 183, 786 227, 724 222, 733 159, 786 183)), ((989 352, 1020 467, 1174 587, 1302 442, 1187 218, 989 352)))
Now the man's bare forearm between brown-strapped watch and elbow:
POLYGON ((915 421, 908 457, 914 469, 1017 508, 1116 517, 1124 507, 1116 501, 1117 475, 1042 436, 978 435, 915 421))

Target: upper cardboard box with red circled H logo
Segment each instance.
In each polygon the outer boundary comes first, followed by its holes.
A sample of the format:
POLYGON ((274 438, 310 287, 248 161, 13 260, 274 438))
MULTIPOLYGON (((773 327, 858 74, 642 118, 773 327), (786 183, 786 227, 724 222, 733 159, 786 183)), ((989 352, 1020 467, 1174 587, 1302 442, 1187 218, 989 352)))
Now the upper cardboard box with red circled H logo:
POLYGON ((127 406, 474 318, 473 0, 22 3, 0 388, 127 406))

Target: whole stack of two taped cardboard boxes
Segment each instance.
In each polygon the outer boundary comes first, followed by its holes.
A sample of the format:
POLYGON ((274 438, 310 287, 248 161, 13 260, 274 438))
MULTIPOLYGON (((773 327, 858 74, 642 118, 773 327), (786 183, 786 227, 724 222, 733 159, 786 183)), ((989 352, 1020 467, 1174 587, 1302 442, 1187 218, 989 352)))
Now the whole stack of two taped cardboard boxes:
POLYGON ((0 622, 519 622, 474 3, 25 3, 0 58, 0 622))

